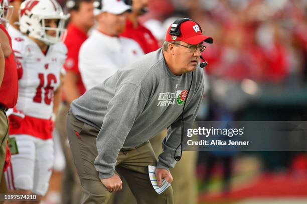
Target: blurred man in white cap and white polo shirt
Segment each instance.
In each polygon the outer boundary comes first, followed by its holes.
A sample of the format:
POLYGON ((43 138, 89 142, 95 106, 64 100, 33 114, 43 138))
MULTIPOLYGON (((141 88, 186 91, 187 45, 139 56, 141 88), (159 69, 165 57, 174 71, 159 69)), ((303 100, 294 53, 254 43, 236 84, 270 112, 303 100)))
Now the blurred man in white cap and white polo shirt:
POLYGON ((79 52, 79 68, 86 89, 144 54, 137 42, 119 36, 129 11, 131 6, 121 0, 103 0, 102 9, 95 10, 98 25, 79 52))

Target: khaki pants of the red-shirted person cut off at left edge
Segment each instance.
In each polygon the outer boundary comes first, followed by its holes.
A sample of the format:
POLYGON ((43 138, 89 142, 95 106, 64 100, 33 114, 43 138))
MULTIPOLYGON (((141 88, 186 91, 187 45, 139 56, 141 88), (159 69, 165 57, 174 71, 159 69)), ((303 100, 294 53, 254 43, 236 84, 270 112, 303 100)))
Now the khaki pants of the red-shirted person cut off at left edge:
POLYGON ((3 166, 5 163, 5 159, 6 159, 8 135, 9 135, 8 117, 7 117, 6 112, 0 109, 0 183, 1 183, 1 180, 4 179, 3 166))

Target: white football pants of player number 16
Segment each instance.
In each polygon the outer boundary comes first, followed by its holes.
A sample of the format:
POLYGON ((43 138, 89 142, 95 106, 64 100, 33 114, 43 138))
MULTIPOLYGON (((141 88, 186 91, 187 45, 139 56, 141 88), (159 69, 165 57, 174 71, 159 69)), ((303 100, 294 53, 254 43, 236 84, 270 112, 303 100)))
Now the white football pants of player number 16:
POLYGON ((11 190, 31 190, 45 195, 53 165, 53 140, 31 135, 15 136, 18 154, 11 157, 11 165, 5 172, 7 187, 11 190))

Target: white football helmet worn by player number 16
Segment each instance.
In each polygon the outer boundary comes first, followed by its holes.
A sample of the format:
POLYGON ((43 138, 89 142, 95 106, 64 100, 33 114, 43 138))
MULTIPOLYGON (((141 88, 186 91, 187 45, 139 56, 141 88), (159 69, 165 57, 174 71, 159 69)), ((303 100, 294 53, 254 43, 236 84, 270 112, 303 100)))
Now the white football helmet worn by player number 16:
POLYGON ((19 9, 19 28, 20 31, 46 44, 54 44, 61 41, 68 17, 69 14, 63 13, 56 0, 26 0, 19 9), (45 19, 58 19, 57 27, 45 26, 45 19), (48 35, 46 30, 55 30, 56 36, 48 35))

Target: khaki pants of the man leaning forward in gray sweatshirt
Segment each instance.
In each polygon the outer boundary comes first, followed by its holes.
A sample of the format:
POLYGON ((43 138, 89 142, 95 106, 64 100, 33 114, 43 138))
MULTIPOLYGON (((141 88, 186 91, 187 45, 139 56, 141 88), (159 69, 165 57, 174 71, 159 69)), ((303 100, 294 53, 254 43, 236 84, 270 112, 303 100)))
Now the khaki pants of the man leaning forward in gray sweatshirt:
MULTIPOLYGON (((81 122, 71 111, 67 114, 67 137, 84 192, 83 203, 107 203, 111 193, 101 183, 94 166, 97 156, 96 137, 99 130, 81 122), (76 131, 79 136, 76 135, 76 131)), ((117 156, 116 172, 123 176, 137 203, 162 204, 173 202, 173 188, 158 194, 152 187, 147 165, 157 164, 157 158, 149 142, 117 156)), ((122 200, 124 201, 124 200, 122 200)))

